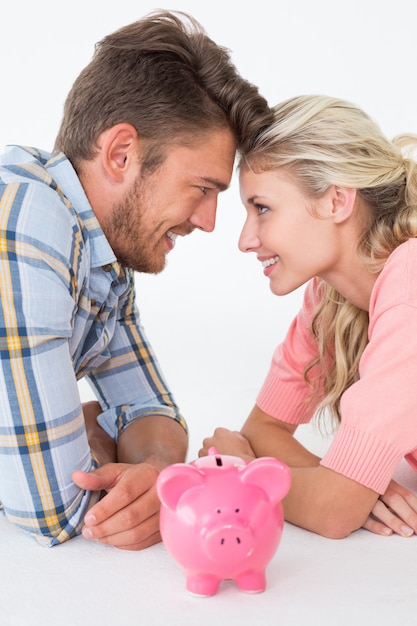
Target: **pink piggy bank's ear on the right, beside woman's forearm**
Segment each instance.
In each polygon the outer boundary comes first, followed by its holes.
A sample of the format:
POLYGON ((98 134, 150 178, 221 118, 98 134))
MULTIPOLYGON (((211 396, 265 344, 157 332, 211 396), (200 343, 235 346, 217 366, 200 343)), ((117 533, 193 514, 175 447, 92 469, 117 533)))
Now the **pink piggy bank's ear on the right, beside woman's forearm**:
POLYGON ((246 466, 241 473, 241 480, 263 489, 272 502, 279 502, 290 489, 291 472, 278 459, 260 457, 246 466))

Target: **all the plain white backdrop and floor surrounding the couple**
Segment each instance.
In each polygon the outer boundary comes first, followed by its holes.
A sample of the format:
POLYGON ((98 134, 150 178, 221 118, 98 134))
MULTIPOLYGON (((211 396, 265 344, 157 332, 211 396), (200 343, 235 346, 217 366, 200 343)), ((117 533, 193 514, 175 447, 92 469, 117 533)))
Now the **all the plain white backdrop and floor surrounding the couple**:
MULTIPOLYGON (((341 96, 392 136, 417 131, 415 4, 165 0, 162 6, 193 13, 271 104, 301 93, 341 96)), ((94 43, 155 8, 139 0, 5 3, 0 145, 51 148, 66 94, 94 43)), ((240 426, 302 295, 273 296, 256 260, 238 252, 243 218, 234 181, 221 197, 216 231, 178 241, 165 272, 138 277, 145 327, 190 425, 190 457, 216 424, 240 426)), ((308 436, 321 449, 317 434, 308 436)), ((415 489, 411 474, 399 480, 415 489)), ((264 594, 243 594, 230 582, 201 599, 186 593, 183 572, 162 544, 137 553, 78 537, 45 550, 0 516, 7 564, 0 572, 1 621, 415 626, 415 542, 364 530, 331 541, 286 525, 264 594)))

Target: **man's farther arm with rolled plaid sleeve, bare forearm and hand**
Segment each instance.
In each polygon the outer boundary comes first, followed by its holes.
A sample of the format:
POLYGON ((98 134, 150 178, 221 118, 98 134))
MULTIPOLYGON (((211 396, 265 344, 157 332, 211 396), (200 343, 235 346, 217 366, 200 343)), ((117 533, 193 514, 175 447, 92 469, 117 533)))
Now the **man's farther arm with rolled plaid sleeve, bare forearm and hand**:
POLYGON ((119 301, 111 356, 89 373, 101 413, 87 424, 88 439, 99 460, 97 445, 108 450, 103 435, 117 441, 116 463, 75 471, 73 480, 87 491, 107 491, 85 516, 84 536, 139 550, 160 541, 156 479, 163 467, 185 460, 188 434, 140 323, 133 283, 132 275, 119 301))

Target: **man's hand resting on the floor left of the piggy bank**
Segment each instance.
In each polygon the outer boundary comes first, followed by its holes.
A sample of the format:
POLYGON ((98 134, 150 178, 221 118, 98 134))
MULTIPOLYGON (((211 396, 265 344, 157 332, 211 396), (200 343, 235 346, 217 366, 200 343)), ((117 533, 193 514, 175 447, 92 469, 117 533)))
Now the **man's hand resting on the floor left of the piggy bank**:
POLYGON ((86 514, 83 536, 124 550, 141 550, 160 541, 158 474, 148 463, 107 463, 92 472, 73 472, 81 489, 107 491, 86 514))

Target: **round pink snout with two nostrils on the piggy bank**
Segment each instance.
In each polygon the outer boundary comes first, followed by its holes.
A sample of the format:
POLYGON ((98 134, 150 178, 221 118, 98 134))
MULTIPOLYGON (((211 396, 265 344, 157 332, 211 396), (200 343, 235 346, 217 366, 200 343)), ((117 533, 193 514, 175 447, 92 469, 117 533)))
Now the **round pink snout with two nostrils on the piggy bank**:
POLYGON ((219 564, 235 564, 248 557, 254 548, 252 529, 245 524, 225 523, 206 530, 206 554, 219 564))

